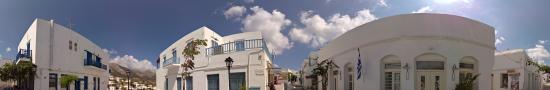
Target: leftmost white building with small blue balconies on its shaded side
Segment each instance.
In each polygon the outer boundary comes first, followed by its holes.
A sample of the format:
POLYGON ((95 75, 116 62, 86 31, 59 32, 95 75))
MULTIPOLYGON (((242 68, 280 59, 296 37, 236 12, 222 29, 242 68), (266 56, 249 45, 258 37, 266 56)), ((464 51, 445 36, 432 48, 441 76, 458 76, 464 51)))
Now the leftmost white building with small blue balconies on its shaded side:
POLYGON ((37 66, 34 90, 64 90, 63 75, 80 78, 71 90, 106 90, 109 54, 73 30, 35 19, 19 43, 16 62, 31 61, 37 66))

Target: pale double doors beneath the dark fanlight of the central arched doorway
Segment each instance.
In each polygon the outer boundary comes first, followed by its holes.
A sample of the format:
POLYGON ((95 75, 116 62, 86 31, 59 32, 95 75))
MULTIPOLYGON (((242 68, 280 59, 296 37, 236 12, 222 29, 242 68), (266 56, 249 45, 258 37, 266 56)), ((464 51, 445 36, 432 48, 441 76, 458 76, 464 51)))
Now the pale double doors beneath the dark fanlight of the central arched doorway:
POLYGON ((416 90, 445 90, 443 71, 416 72, 416 90))

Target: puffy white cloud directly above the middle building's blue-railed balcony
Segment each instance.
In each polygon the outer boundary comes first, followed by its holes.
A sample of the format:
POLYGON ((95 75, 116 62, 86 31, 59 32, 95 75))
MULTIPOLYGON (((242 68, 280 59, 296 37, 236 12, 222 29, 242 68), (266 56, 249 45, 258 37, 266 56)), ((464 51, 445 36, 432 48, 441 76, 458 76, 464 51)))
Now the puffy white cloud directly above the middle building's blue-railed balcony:
POLYGON ((285 14, 278 10, 268 12, 258 6, 254 6, 250 10, 252 14, 242 20, 243 32, 261 32, 267 46, 274 54, 281 54, 285 49, 292 47, 288 37, 281 33, 281 30, 291 24, 291 21, 285 18, 285 14))

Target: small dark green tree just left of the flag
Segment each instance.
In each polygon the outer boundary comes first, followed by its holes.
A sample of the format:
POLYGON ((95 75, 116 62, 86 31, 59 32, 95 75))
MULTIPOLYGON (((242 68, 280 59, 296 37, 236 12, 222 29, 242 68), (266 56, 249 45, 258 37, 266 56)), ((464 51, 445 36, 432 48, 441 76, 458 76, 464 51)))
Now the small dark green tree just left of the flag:
POLYGON ((321 76, 321 84, 323 90, 327 89, 328 85, 328 71, 334 68, 338 68, 332 60, 324 60, 321 63, 317 63, 317 66, 313 69, 312 76, 319 77, 321 76))

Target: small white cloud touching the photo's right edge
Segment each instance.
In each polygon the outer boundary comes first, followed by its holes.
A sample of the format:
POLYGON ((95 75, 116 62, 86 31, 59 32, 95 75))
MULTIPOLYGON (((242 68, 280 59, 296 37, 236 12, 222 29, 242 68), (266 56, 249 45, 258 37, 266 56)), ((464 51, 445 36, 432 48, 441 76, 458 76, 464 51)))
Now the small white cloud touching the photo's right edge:
POLYGON ((543 63, 545 60, 550 60, 550 53, 544 48, 544 44, 547 40, 539 40, 535 47, 527 49, 527 55, 537 61, 538 63, 543 63))

